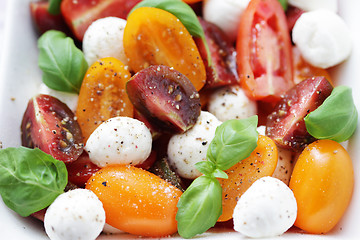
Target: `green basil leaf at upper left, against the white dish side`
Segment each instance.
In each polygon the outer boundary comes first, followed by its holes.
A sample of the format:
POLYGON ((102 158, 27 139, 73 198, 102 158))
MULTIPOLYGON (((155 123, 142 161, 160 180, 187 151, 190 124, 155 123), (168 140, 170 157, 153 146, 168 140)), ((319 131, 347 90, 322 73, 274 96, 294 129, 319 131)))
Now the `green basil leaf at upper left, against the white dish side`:
POLYGON ((78 93, 88 64, 74 41, 63 32, 50 30, 39 38, 38 48, 43 82, 54 90, 78 93))

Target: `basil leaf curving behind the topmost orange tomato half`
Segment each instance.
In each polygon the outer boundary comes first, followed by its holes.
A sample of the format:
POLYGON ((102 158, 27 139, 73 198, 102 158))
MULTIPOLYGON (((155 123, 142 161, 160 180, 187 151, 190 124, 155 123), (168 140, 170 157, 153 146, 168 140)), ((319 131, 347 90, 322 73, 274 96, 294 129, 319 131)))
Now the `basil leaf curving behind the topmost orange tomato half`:
POLYGON ((205 39, 204 29, 201 27, 199 19, 189 5, 181 0, 143 0, 130 11, 129 15, 140 7, 159 8, 177 17, 192 36, 201 38, 206 49, 209 66, 211 66, 211 54, 205 39))

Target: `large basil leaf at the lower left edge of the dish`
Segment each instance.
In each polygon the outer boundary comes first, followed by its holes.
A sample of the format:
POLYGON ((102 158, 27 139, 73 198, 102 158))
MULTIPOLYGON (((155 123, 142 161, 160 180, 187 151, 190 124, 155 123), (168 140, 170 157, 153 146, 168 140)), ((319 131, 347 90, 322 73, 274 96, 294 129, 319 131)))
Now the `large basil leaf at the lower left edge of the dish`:
POLYGON ((39 149, 0 151, 1 197, 23 217, 49 206, 64 192, 66 184, 65 164, 39 149))

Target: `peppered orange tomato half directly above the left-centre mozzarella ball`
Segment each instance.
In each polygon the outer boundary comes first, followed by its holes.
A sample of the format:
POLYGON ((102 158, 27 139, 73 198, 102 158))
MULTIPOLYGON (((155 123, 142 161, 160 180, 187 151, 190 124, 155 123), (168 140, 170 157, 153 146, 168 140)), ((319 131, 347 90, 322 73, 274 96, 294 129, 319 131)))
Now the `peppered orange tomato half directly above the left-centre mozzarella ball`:
POLYGON ((116 58, 103 58, 90 66, 80 88, 76 109, 84 142, 107 119, 133 117, 133 106, 125 90, 130 77, 127 67, 116 58))

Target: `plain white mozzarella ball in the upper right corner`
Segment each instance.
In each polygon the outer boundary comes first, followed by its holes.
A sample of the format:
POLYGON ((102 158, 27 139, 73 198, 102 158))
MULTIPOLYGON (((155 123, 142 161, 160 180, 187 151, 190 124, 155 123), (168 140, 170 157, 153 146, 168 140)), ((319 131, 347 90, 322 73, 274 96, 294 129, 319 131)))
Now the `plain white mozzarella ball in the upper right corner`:
POLYGON ((315 67, 335 66, 351 53, 348 26, 328 10, 303 13, 294 25, 292 38, 303 58, 315 67))

